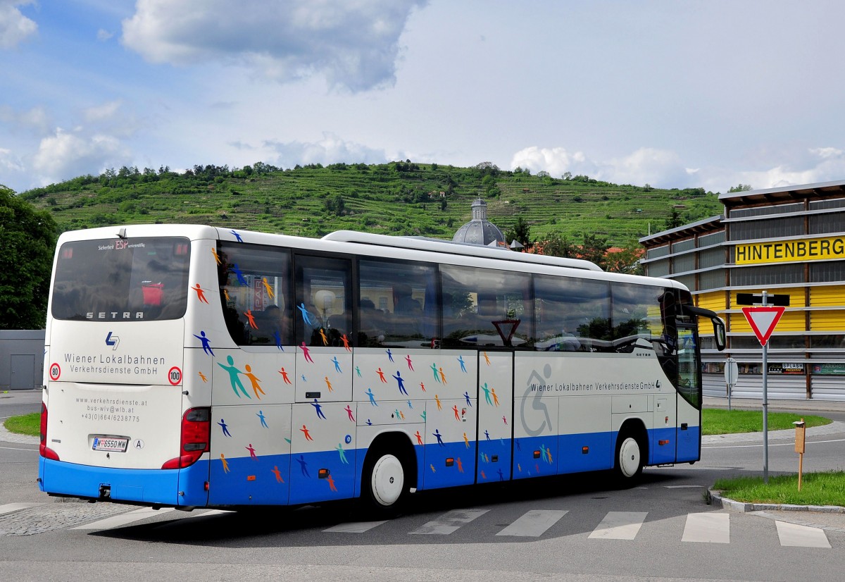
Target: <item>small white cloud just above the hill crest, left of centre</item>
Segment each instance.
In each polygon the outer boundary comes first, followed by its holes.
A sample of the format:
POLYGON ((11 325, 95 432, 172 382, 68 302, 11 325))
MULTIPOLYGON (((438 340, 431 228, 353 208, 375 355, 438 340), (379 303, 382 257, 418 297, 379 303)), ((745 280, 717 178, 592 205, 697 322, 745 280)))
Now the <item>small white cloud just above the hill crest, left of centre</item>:
POLYGON ((281 143, 268 141, 264 146, 275 151, 277 155, 275 165, 281 167, 312 163, 326 165, 339 162, 371 164, 384 163, 389 159, 384 150, 374 150, 361 144, 342 140, 337 135, 329 133, 324 134, 323 139, 317 142, 289 141, 281 143))

